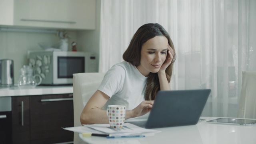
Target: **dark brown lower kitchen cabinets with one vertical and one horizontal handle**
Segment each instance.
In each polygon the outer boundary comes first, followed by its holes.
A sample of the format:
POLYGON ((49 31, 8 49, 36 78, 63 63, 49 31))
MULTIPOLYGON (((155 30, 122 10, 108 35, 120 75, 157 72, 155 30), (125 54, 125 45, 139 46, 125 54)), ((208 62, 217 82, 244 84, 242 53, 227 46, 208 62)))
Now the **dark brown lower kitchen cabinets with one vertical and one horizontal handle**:
POLYGON ((74 133, 61 128, 74 126, 72 99, 73 94, 13 96, 13 144, 72 142, 74 133))

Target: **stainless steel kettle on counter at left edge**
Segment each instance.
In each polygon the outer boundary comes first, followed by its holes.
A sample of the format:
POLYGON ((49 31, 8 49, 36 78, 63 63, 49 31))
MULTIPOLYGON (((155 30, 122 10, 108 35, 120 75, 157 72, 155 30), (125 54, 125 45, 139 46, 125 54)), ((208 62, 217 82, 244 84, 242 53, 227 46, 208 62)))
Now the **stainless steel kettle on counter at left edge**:
POLYGON ((13 73, 13 60, 2 59, 0 60, 0 86, 13 86, 14 73, 13 73))

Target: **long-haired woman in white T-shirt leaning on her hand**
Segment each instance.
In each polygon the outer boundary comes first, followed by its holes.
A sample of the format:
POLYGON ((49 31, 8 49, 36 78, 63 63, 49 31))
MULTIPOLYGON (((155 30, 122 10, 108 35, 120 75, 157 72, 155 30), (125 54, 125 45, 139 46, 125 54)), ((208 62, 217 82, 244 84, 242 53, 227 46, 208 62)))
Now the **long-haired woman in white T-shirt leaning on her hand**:
POLYGON ((159 90, 170 90, 176 55, 169 34, 160 24, 141 26, 123 59, 106 72, 82 111, 81 124, 108 123, 106 108, 113 104, 126 106, 126 119, 142 116, 150 112, 159 90))

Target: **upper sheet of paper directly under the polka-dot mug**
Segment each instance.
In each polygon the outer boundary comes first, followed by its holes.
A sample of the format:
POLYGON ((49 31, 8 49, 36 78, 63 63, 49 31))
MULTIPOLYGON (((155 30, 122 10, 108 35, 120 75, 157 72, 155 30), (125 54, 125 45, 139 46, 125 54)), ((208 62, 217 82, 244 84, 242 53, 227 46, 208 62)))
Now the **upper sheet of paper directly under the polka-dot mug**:
POLYGON ((135 126, 134 124, 124 123, 124 127, 122 129, 113 129, 110 128, 109 124, 87 124, 84 125, 89 128, 93 128, 95 130, 105 132, 108 134, 139 134, 139 133, 149 133, 149 132, 161 132, 159 130, 152 130, 141 128, 139 126, 135 126))

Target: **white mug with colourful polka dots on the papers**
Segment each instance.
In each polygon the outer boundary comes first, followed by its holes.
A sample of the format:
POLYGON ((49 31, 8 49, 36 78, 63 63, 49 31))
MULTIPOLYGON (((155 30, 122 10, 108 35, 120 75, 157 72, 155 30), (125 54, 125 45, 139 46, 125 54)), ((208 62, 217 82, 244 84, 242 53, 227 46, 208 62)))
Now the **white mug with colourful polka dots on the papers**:
POLYGON ((121 129, 124 126, 125 106, 109 105, 107 108, 108 122, 110 128, 121 129))

